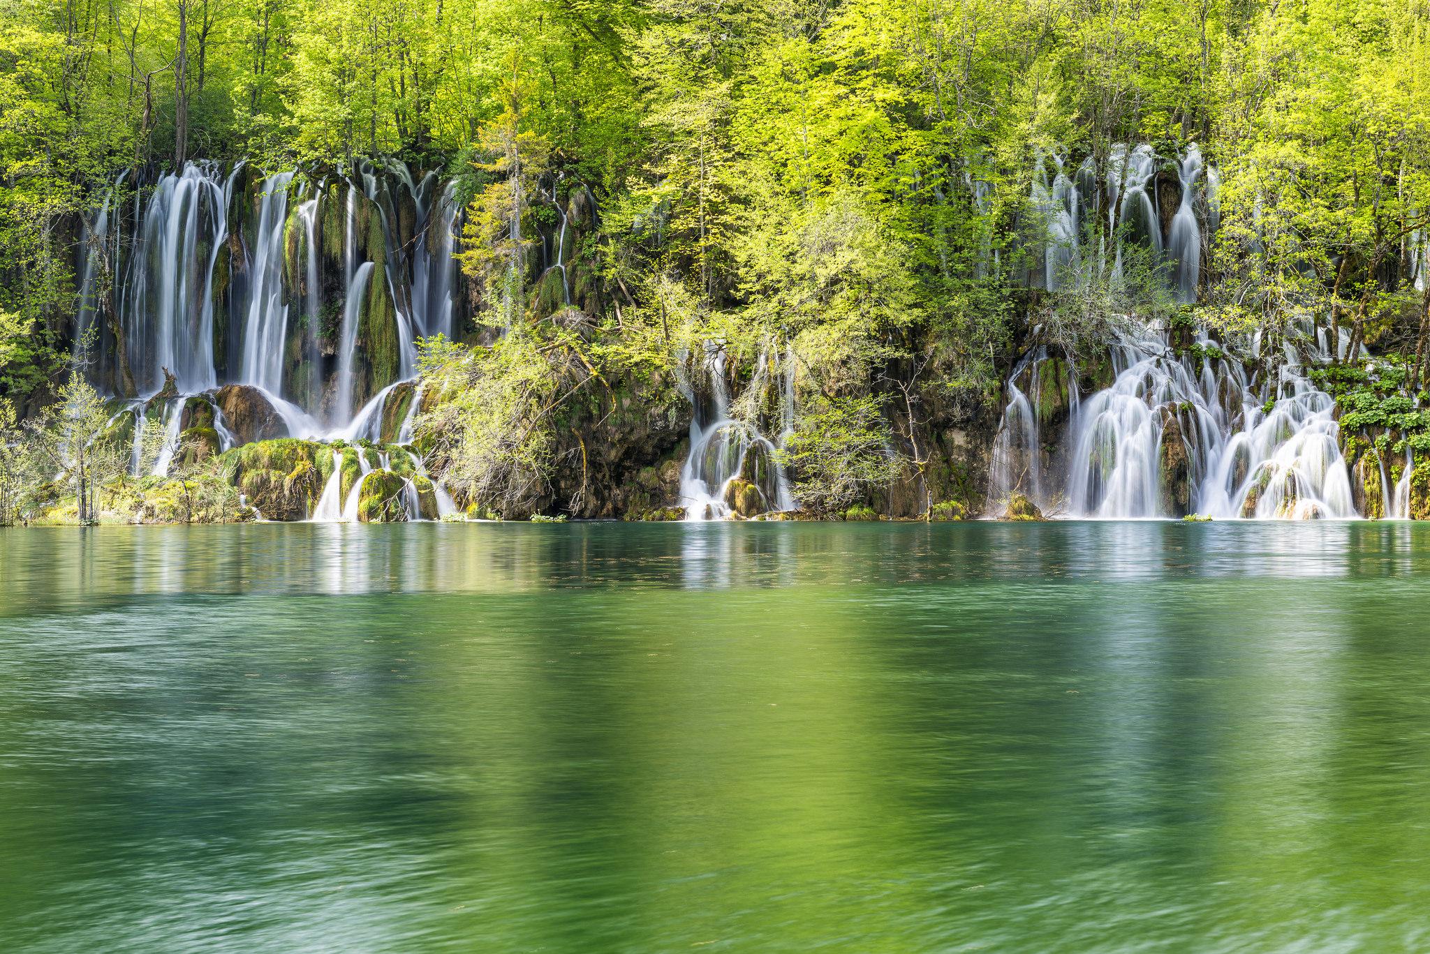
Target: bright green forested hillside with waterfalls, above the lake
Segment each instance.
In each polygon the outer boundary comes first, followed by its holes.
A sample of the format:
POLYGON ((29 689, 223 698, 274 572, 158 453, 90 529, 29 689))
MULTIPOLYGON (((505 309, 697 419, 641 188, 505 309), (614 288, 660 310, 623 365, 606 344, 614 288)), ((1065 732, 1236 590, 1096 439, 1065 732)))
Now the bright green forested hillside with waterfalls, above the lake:
POLYGON ((0 10, 0 521, 1430 515, 1426 0, 0 10), (193 386, 94 250, 186 167, 193 386), (216 277, 265 227, 272 378, 216 277), (235 441, 260 383, 323 426, 235 441))

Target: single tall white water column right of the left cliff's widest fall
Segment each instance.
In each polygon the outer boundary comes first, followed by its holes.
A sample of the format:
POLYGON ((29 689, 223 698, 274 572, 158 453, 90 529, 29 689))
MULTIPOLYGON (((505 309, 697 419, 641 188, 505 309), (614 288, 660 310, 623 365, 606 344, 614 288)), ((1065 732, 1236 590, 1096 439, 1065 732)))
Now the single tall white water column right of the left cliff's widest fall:
POLYGON ((292 179, 293 173, 285 172, 263 182, 239 373, 240 382, 275 395, 283 390, 283 345, 287 338, 283 226, 287 217, 287 185, 292 179))

